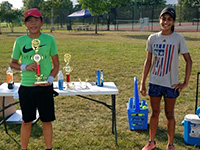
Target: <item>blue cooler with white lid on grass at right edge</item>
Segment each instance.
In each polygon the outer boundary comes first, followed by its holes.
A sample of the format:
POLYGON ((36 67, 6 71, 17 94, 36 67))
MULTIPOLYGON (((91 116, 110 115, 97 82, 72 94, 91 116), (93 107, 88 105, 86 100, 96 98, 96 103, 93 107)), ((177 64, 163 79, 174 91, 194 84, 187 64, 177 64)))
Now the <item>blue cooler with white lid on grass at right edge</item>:
POLYGON ((200 146, 200 118, 195 114, 184 117, 184 142, 200 146))

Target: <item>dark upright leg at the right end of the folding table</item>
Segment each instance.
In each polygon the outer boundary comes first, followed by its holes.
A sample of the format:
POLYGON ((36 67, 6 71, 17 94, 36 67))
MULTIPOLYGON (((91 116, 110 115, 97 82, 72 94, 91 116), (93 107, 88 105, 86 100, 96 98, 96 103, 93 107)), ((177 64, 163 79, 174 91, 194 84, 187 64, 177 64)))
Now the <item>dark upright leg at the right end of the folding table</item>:
POLYGON ((115 134, 115 145, 117 144, 117 123, 116 123, 116 109, 115 109, 115 95, 111 95, 112 97, 112 133, 115 134))

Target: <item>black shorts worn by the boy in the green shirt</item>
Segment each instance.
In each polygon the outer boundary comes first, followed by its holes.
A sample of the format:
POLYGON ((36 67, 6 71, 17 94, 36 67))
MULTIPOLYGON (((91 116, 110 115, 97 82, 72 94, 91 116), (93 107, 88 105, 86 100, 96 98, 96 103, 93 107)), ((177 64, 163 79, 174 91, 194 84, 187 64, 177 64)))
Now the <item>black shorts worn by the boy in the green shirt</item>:
POLYGON ((36 110, 38 110, 42 122, 55 120, 53 85, 45 87, 20 86, 18 93, 24 122, 35 120, 36 110))

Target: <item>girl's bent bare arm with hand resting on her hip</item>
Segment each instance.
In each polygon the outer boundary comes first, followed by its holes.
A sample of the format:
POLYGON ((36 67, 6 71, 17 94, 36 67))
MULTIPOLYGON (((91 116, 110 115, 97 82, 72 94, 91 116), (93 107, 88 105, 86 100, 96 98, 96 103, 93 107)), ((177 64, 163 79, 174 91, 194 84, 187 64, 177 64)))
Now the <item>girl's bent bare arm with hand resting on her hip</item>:
POLYGON ((175 91, 179 90, 179 92, 182 89, 184 89, 184 88, 186 88, 188 86, 190 75, 191 75, 191 70, 192 70, 192 59, 190 57, 190 54, 189 53, 185 53, 185 54, 183 54, 183 57, 184 57, 185 62, 186 62, 184 82, 172 85, 172 87, 175 87, 175 91))

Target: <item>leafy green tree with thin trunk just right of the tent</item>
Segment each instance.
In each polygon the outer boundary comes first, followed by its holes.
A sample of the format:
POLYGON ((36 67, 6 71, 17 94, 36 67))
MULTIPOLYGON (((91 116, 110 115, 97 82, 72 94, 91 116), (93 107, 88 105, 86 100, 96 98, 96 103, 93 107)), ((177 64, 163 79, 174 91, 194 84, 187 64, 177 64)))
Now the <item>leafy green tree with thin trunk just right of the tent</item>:
POLYGON ((130 0, 80 0, 82 9, 90 10, 92 16, 95 17, 95 34, 97 34, 97 19, 99 15, 107 14, 112 8, 126 4, 130 0))

